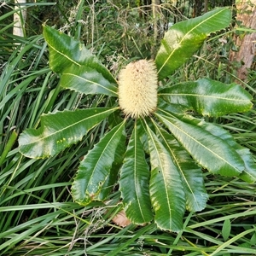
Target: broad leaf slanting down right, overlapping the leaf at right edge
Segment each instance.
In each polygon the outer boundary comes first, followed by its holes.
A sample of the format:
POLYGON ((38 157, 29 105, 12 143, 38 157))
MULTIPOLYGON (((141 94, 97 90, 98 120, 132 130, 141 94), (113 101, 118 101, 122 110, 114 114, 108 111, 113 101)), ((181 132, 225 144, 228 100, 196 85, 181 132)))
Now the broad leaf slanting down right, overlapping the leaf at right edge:
POLYGON ((198 125, 183 122, 174 115, 155 114, 194 160, 209 172, 237 176, 244 170, 240 155, 222 139, 198 125))

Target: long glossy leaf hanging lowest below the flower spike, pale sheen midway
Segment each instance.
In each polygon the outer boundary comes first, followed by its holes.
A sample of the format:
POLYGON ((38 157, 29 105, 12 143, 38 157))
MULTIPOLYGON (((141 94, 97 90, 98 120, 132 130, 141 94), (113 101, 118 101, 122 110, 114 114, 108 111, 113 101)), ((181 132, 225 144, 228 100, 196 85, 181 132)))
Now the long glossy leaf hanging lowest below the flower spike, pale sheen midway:
POLYGON ((148 127, 151 177, 149 193, 155 212, 154 221, 162 230, 178 232, 183 228, 185 195, 183 183, 170 153, 148 127))

